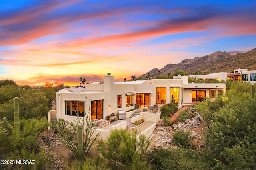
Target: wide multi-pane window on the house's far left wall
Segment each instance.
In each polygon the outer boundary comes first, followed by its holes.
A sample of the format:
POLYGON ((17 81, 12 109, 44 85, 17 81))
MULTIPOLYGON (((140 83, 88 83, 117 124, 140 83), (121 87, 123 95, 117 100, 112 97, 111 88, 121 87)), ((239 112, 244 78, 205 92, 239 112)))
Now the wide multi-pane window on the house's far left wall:
POLYGON ((65 115, 84 116, 84 101, 65 101, 65 115))

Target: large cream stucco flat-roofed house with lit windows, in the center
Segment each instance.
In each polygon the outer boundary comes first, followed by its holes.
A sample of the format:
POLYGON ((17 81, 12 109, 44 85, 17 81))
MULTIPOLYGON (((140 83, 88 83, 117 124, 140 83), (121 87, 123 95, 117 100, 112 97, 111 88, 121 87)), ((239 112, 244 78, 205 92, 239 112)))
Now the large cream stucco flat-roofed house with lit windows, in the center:
POLYGON ((73 121, 90 114, 98 125, 96 132, 103 132, 103 138, 108 137, 112 128, 126 128, 128 121, 144 119, 151 123, 146 129, 140 129, 140 133, 146 133, 149 137, 160 119, 162 105, 175 102, 181 108, 206 97, 214 99, 219 93, 225 92, 225 86, 224 83, 188 83, 188 76, 180 75, 174 76, 174 79, 115 82, 114 76, 108 74, 104 76, 103 83, 82 84, 79 88, 56 92, 56 110, 50 111, 48 117, 51 119, 56 115, 56 120, 62 118, 73 121), (134 113, 130 110, 136 105, 141 108, 140 114, 129 119, 134 113), (106 116, 111 113, 115 113, 119 119, 112 124, 106 120, 106 116))

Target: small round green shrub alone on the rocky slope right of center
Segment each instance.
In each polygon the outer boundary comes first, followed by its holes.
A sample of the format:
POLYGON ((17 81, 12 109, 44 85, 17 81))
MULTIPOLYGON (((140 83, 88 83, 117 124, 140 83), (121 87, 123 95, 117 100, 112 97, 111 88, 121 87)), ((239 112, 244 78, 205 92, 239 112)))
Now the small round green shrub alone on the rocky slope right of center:
POLYGON ((189 137, 190 134, 191 134, 191 131, 184 131, 184 130, 176 131, 176 133, 172 135, 174 139, 174 144, 180 147, 188 148, 189 146, 188 142, 193 140, 189 137))

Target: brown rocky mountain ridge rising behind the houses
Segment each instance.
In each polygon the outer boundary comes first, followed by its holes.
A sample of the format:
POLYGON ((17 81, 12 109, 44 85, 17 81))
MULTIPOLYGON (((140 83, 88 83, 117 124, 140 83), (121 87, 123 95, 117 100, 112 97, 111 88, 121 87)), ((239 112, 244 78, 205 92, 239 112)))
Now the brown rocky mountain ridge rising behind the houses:
POLYGON ((168 75, 168 73, 172 75, 176 70, 192 75, 199 73, 233 72, 234 69, 238 68, 256 70, 256 48, 247 53, 237 53, 236 55, 231 55, 225 51, 217 51, 203 57, 185 59, 178 64, 167 64, 162 69, 154 68, 138 78, 146 78, 148 73, 150 77, 159 75, 159 73, 160 75, 168 75))

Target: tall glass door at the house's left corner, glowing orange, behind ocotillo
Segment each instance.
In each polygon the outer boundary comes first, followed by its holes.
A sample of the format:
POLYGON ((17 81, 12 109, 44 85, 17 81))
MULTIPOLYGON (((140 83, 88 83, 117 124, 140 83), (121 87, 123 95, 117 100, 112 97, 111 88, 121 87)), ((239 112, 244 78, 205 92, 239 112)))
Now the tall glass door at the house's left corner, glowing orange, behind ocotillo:
POLYGON ((103 100, 91 101, 91 118, 102 119, 103 117, 103 100))

